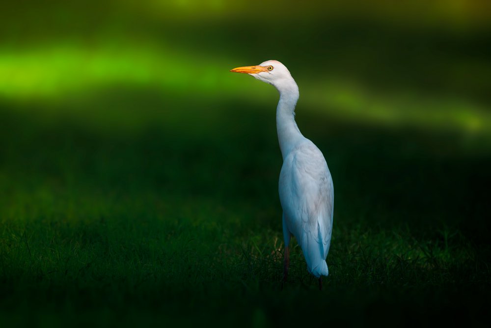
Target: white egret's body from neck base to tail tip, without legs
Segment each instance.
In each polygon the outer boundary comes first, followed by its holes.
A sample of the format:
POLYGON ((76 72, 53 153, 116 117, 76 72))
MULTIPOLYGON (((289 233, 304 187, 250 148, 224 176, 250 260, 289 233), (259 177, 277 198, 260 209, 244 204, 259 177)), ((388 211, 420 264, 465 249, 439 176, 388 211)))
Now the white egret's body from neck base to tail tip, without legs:
POLYGON ((334 190, 326 160, 310 140, 285 156, 279 196, 287 228, 298 240, 309 272, 327 275, 334 190))

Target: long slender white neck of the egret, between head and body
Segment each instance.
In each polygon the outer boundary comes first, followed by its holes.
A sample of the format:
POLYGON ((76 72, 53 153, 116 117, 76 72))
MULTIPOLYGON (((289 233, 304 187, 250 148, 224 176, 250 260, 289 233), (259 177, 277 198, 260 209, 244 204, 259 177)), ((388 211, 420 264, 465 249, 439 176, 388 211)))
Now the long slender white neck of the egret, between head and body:
POLYGON ((292 149, 304 139, 295 122, 295 106, 299 100, 299 88, 292 80, 276 87, 279 91, 279 102, 276 108, 276 129, 278 132, 279 148, 283 159, 292 149))

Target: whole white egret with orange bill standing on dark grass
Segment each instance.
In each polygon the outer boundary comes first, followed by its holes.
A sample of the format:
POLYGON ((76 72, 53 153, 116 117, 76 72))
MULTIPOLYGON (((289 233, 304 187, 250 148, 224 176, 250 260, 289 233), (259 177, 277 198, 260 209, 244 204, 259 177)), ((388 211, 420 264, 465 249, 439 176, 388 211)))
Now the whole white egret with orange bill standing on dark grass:
POLYGON ((327 276, 334 205, 334 187, 322 152, 305 138, 295 122, 299 88, 290 71, 277 60, 256 66, 237 67, 231 72, 246 73, 273 85, 279 91, 276 129, 283 166, 279 176, 279 199, 283 209, 285 260, 283 281, 290 265, 290 239, 295 236, 307 262, 307 270, 319 278, 327 276))

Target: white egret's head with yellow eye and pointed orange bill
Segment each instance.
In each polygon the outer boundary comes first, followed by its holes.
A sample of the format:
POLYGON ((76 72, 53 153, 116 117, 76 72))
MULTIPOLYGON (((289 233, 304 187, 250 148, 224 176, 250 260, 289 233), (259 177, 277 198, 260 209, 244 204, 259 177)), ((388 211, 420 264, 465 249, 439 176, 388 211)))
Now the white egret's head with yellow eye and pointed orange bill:
POLYGON ((273 85, 278 90, 291 87, 292 83, 295 87, 297 86, 288 68, 278 60, 267 60, 259 65, 237 67, 230 71, 249 74, 260 81, 273 85))

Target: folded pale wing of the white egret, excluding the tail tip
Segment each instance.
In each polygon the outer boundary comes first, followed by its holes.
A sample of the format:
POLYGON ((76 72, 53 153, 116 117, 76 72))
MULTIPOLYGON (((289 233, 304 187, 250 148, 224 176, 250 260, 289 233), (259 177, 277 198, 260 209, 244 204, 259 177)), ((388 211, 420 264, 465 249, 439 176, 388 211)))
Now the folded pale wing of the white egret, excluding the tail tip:
POLYGON ((303 143, 292 155, 290 177, 283 177, 291 179, 288 185, 293 196, 287 202, 287 212, 299 224, 300 236, 296 237, 304 245, 306 258, 319 251, 326 259, 332 230, 332 178, 322 152, 312 142, 303 143))

